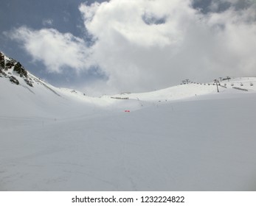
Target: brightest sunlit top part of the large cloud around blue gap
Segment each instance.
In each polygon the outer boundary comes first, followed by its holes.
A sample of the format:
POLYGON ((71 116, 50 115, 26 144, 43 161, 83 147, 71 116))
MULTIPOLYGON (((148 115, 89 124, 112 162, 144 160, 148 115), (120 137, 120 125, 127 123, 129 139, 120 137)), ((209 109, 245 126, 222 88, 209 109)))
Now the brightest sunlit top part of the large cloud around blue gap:
POLYGON ((185 1, 116 1, 95 3, 91 6, 80 5, 85 26, 100 40, 112 40, 120 35, 135 46, 167 46, 179 41, 182 27, 177 22, 187 24, 190 15, 195 11, 184 7, 185 1), (161 25, 148 25, 142 19, 143 15, 155 18, 166 18, 161 25))

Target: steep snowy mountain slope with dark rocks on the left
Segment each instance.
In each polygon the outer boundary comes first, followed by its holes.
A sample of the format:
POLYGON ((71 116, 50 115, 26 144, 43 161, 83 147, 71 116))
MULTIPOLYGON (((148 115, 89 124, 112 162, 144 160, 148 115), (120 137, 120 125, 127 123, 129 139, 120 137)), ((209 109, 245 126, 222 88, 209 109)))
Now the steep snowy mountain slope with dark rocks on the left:
MULTIPOLYGON (((0 65, 1 107, 12 108, 17 116, 68 116, 77 105, 91 108, 113 102, 110 98, 99 101, 73 89, 55 88, 1 52, 0 65)), ((3 115, 8 113, 10 110, 2 111, 3 115)))

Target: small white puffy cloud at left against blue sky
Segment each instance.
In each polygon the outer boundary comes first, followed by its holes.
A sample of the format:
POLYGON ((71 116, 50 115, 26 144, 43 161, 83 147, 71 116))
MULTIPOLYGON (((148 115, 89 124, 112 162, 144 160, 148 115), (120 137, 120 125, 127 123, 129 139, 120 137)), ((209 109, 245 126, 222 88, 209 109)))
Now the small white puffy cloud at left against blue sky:
POLYGON ((33 60, 41 61, 49 72, 61 72, 63 68, 74 68, 77 72, 88 68, 89 49, 83 39, 70 33, 62 34, 55 29, 33 30, 22 26, 8 33, 18 40, 33 60))

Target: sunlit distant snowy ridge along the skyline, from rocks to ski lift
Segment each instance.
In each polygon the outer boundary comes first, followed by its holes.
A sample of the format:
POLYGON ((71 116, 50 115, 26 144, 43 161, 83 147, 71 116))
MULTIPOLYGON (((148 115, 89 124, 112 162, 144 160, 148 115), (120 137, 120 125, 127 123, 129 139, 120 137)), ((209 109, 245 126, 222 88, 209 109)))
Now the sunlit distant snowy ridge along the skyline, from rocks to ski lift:
MULTIPOLYGON (((168 102, 179 99, 195 98, 205 96, 207 94, 215 94, 217 92, 214 82, 189 82, 187 84, 176 85, 170 88, 155 90, 147 93, 120 93, 115 95, 103 95, 99 97, 86 96, 77 90, 69 88, 56 88, 42 79, 30 74, 21 63, 11 57, 7 57, 0 51, 0 77, 9 79, 15 85, 20 85, 26 88, 31 93, 41 93, 42 90, 50 91, 63 99, 73 99, 82 102, 94 102, 94 104, 112 104, 120 102, 120 100, 137 100, 142 102, 168 102), (104 103, 102 103, 104 102, 104 103)), ((256 77, 238 77, 238 78, 223 78, 218 83, 220 93, 237 93, 244 91, 256 91, 256 77)))

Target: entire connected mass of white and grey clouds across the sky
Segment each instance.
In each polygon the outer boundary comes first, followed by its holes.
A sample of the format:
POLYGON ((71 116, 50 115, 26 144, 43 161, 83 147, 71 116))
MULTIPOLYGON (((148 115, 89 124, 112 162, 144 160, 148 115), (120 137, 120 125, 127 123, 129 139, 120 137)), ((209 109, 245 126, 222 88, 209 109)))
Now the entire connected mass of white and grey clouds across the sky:
POLYGON ((55 29, 21 27, 11 38, 21 40, 34 60, 41 60, 49 71, 61 72, 65 66, 80 71, 98 65, 108 77, 103 80, 105 90, 153 90, 186 78, 209 81, 255 75, 255 4, 207 14, 191 4, 190 0, 81 4, 84 26, 95 40, 90 48, 83 39, 55 29))

